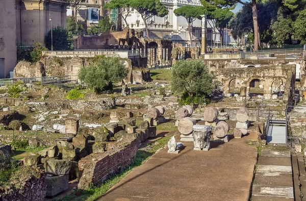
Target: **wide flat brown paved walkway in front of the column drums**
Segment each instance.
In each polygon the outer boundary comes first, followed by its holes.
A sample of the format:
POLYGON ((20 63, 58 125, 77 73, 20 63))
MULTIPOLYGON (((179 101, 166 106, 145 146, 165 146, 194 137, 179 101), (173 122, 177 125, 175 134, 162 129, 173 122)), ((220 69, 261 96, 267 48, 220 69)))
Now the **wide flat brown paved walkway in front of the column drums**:
POLYGON ((257 134, 212 142, 208 152, 193 150, 193 142, 184 142, 180 154, 168 154, 165 148, 98 200, 247 201, 257 162, 257 148, 247 145, 247 139, 257 139, 257 134))

